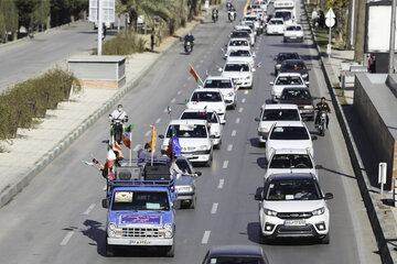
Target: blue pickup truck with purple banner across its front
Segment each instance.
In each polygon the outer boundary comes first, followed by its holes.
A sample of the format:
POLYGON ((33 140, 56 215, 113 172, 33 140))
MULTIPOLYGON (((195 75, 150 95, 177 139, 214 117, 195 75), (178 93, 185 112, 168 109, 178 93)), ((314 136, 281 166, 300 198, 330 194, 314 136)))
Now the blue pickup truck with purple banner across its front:
POLYGON ((172 179, 111 180, 103 207, 108 208, 106 255, 118 246, 157 246, 173 256, 175 185, 172 179))

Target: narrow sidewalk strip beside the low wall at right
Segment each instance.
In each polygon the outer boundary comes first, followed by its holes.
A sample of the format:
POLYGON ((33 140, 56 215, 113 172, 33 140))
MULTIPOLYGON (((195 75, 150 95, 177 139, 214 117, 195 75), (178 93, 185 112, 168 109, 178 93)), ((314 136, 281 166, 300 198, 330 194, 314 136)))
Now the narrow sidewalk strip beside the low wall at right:
MULTIPOLYGON (((307 4, 304 4, 307 10, 307 4)), ((310 31, 319 54, 320 47, 316 44, 311 23, 310 31)), ((335 84, 340 82, 341 63, 352 62, 354 51, 332 51, 331 57, 321 56, 321 66, 325 81, 332 97, 333 107, 345 138, 352 166, 357 177, 357 184, 367 209, 367 215, 379 248, 383 263, 397 263, 397 208, 393 206, 393 194, 385 191, 380 195, 377 183, 377 164, 373 162, 374 150, 367 144, 361 123, 352 109, 354 89, 342 90, 335 84), (373 184, 372 184, 373 183, 373 184)))

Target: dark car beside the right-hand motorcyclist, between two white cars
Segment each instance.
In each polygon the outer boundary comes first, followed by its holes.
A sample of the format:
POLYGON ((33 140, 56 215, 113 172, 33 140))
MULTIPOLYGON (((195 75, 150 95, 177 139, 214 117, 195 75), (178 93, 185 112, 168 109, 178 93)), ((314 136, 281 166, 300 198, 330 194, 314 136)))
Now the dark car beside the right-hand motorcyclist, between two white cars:
POLYGON ((314 105, 310 90, 305 87, 287 87, 282 90, 280 103, 294 103, 303 119, 314 120, 314 105))

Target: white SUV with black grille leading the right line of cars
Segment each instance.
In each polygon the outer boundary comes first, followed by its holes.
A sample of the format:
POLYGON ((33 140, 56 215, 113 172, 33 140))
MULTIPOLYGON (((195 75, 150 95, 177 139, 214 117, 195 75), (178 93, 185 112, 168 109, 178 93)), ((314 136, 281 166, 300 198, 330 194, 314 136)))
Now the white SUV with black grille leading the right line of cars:
POLYGON ((255 195, 259 200, 259 241, 276 238, 314 238, 330 243, 330 210, 315 176, 311 174, 273 174, 264 191, 255 195))

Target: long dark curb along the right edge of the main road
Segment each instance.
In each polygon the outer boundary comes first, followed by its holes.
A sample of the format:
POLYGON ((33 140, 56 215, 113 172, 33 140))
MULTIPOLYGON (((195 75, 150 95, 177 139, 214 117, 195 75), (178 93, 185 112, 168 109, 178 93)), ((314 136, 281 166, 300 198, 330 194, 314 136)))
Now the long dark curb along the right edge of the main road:
MULTIPOLYGON (((303 7, 304 7, 305 14, 308 16, 308 21, 309 21, 307 4, 303 3, 303 7)), ((318 45, 313 29, 312 29, 312 25, 310 22, 309 22, 309 28, 310 28, 310 32, 311 32, 313 42, 315 44, 316 51, 319 52, 319 55, 320 55, 321 68, 322 68, 323 75, 324 75, 326 87, 331 95, 332 105, 335 109, 336 118, 339 120, 339 123, 340 123, 340 127, 342 130, 342 134, 346 142, 346 147, 347 147, 348 155, 350 155, 350 158, 352 162, 353 170, 354 170, 354 174, 356 175, 360 193, 362 195, 364 205, 367 209, 367 215, 369 218, 371 226, 373 228, 374 235, 376 238, 376 242, 377 242, 377 245, 379 249, 382 262, 385 264, 397 263, 397 258, 394 260, 395 257, 391 254, 391 252, 395 251, 395 248, 391 244, 389 244, 388 240, 385 238, 385 234, 390 233, 390 232, 388 232, 384 220, 382 218, 378 218, 379 216, 382 216, 382 211, 376 204, 376 199, 375 199, 374 195, 372 193, 369 193, 371 184, 369 184, 368 175, 366 174, 366 172, 364 169, 362 169, 362 168, 364 168, 363 161, 360 156, 354 138, 352 135, 348 123, 346 121, 346 117, 344 116, 342 106, 341 106, 340 101, 337 100, 335 91, 332 87, 332 79, 335 77, 332 76, 332 74, 333 74, 332 68, 328 67, 326 63, 324 62, 323 56, 321 56, 321 50, 320 50, 320 46, 318 45), (329 72, 331 72, 332 74, 329 74, 329 72)))

